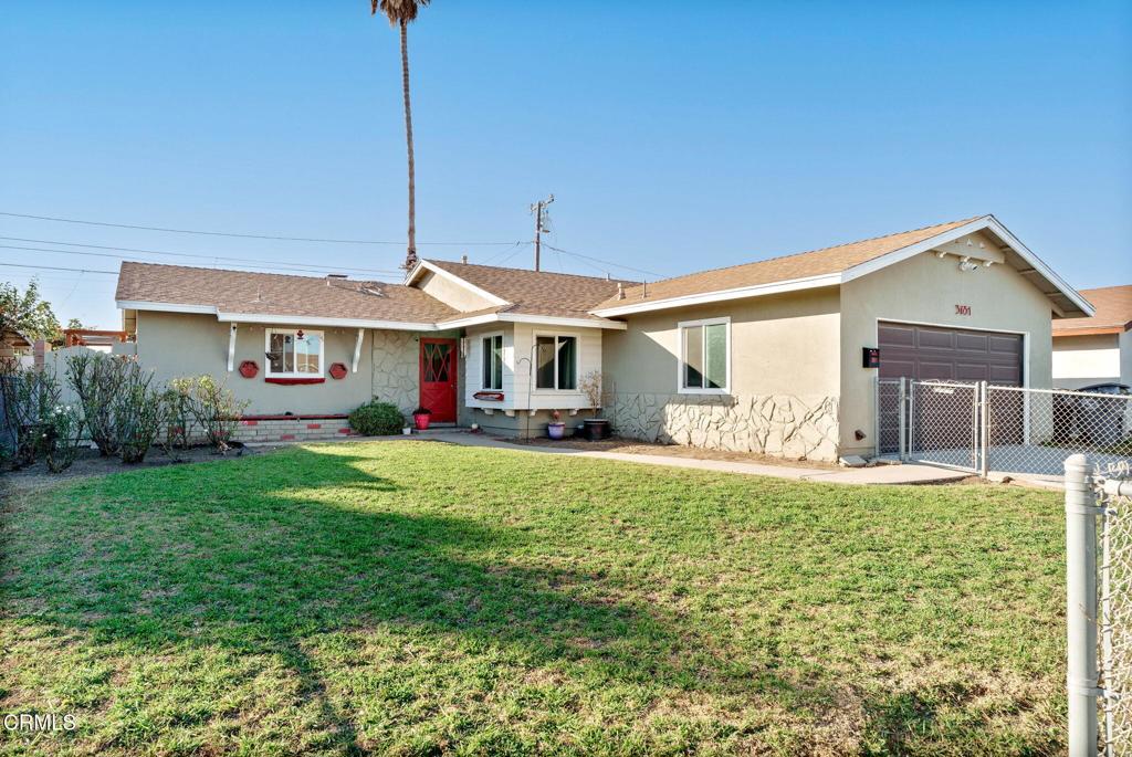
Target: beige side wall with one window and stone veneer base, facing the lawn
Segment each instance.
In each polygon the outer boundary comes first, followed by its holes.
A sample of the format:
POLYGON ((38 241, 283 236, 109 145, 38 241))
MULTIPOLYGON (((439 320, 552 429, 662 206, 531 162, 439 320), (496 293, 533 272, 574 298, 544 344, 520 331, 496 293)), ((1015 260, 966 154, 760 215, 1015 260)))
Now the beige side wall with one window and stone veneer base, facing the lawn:
POLYGON ((837 455, 835 287, 627 318, 603 335, 607 407, 619 433, 786 457, 837 455), (679 394, 678 324, 730 317, 730 393, 679 394))

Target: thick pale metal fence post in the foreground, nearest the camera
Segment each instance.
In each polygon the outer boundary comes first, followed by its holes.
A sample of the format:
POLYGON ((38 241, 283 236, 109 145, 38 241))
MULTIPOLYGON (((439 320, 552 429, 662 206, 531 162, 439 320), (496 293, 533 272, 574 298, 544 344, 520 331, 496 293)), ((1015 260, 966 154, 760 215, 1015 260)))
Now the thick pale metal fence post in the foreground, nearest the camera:
POLYGON ((1097 754, 1097 502, 1084 455, 1065 458, 1069 754, 1097 754))

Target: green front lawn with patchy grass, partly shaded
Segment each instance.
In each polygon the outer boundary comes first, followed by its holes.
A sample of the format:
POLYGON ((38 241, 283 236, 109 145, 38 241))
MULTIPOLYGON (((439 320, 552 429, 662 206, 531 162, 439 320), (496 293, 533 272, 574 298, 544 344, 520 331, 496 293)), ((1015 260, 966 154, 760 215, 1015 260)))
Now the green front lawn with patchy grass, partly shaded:
POLYGON ((436 442, 3 514, 24 754, 1058 754, 1062 509, 436 442))

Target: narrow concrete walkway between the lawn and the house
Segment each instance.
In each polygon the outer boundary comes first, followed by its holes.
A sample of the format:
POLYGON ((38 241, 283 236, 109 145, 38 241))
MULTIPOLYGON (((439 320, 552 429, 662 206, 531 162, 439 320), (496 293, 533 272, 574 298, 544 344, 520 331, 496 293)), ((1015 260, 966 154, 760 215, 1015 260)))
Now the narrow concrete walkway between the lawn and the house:
MULTIPOLYGON (((406 437, 385 437, 387 439, 405 439, 406 437)), ((743 473, 746 475, 766 475, 777 479, 795 481, 818 481, 823 483, 851 484, 920 484, 947 483, 968 478, 969 473, 951 471, 932 465, 876 465, 874 467, 838 468, 826 471, 812 467, 789 467, 787 465, 762 465, 758 463, 736 463, 731 461, 695 459, 691 457, 670 457, 668 455, 631 455, 626 453, 590 451, 568 447, 541 447, 538 445, 513 445, 501 439, 492 439, 481 433, 466 431, 427 431, 414 435, 414 439, 445 441, 465 447, 492 447, 535 455, 575 455, 597 459, 611 459, 637 465, 664 465, 668 467, 686 467, 697 471, 718 471, 720 473, 743 473)), ((357 437, 353 440, 358 440, 357 437)))

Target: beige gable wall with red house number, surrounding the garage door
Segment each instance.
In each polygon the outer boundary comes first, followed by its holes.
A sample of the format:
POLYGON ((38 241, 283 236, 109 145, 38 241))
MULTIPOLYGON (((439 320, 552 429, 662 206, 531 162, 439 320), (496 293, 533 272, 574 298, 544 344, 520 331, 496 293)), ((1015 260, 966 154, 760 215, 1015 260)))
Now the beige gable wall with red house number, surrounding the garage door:
MULTIPOLYGON (((1006 265, 962 272, 952 256, 924 252, 841 287, 841 451, 874 450, 874 386, 877 371, 861 368, 861 347, 877 344, 877 321, 912 321, 1023 334, 1026 384, 1050 388, 1049 300, 1006 265), (970 306, 970 315, 955 311, 970 306), (854 438, 860 430, 861 441, 854 438)), ((884 354, 881 354, 883 362, 884 354)))

